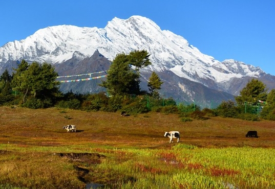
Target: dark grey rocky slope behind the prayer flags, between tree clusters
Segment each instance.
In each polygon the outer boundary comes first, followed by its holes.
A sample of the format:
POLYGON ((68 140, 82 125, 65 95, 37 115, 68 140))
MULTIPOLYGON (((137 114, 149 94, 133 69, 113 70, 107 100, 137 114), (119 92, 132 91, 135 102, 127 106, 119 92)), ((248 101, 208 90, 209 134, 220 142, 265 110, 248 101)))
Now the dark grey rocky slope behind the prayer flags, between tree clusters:
POLYGON ((105 88, 100 87, 98 84, 105 78, 96 77, 107 75, 105 71, 109 69, 111 61, 98 51, 95 51, 91 57, 84 59, 79 59, 81 56, 77 56, 77 54, 79 54, 79 52, 75 52, 70 60, 54 65, 55 71, 59 76, 73 76, 58 78, 59 81, 66 81, 61 82, 60 90, 63 92, 72 91, 78 93, 97 93, 104 91, 105 88))

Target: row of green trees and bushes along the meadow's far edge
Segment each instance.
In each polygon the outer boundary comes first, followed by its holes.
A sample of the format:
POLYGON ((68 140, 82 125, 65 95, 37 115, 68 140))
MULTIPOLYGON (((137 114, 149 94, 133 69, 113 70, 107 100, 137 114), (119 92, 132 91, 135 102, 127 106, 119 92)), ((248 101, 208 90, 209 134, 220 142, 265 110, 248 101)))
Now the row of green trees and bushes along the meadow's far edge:
POLYGON ((123 110, 128 113, 148 111, 179 113, 183 121, 207 116, 235 117, 257 121, 259 118, 275 120, 275 89, 268 92, 266 85, 252 79, 235 97, 223 101, 216 109, 200 109, 194 104, 177 104, 173 98, 164 99, 158 92, 162 81, 153 72, 147 83, 148 91, 140 89, 140 69, 151 65, 147 51, 118 54, 113 60, 108 77, 100 86, 105 92, 95 94, 62 93, 58 74, 49 63, 28 63, 22 60, 12 75, 6 69, 0 77, 0 105, 27 108, 72 108, 86 111, 123 110))

